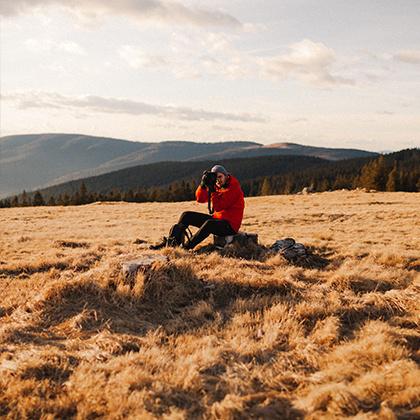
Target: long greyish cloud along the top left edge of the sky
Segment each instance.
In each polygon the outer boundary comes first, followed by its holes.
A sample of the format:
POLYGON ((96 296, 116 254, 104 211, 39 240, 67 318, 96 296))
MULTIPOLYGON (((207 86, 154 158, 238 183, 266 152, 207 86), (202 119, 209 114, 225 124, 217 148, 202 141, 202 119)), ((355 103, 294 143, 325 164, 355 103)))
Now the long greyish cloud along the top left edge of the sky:
POLYGON ((170 0, 2 0, 0 15, 12 17, 51 6, 64 7, 89 19, 123 15, 141 22, 152 20, 179 25, 242 26, 235 17, 219 10, 187 7, 170 0))

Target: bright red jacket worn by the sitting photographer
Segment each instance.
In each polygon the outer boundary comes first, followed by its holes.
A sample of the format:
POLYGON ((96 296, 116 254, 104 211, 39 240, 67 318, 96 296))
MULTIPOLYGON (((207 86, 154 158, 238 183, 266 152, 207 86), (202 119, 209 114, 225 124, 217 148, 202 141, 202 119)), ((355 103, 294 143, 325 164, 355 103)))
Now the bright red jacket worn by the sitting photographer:
MULTIPOLYGON (((199 203, 207 203, 208 192, 206 188, 197 188, 195 196, 199 203)), ((229 175, 226 187, 219 188, 216 185, 216 191, 211 195, 215 219, 227 220, 235 232, 241 227, 244 216, 244 193, 242 192, 239 181, 229 175)))

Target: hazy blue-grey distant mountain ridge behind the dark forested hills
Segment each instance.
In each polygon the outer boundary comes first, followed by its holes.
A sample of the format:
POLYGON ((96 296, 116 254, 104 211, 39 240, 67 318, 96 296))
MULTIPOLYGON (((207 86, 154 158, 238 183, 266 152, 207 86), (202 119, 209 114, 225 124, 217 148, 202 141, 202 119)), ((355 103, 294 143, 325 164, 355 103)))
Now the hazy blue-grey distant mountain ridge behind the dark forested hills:
POLYGON ((340 160, 376 153, 293 143, 249 141, 135 142, 80 134, 30 134, 0 138, 0 196, 162 161, 201 161, 270 155, 340 160))

